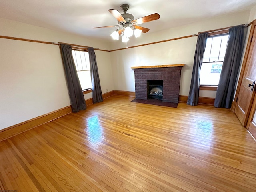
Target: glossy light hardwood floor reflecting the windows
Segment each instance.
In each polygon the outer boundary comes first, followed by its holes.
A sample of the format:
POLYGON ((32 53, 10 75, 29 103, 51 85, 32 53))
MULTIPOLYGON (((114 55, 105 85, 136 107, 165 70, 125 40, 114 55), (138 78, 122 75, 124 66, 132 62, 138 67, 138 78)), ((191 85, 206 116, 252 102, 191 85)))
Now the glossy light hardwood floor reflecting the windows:
POLYGON ((0 191, 256 191, 256 142, 229 109, 132 99, 0 142, 0 191))

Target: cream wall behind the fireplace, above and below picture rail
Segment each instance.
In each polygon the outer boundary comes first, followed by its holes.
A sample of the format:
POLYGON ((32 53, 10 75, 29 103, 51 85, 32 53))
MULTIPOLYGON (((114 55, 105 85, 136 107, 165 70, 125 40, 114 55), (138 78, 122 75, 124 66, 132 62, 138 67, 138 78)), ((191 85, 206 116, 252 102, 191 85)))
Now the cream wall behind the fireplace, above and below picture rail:
MULTIPOLYGON (((140 38, 132 38, 128 46, 146 44, 181 36, 197 34, 198 32, 235 26, 248 23, 250 11, 243 11, 236 14, 226 14, 196 22, 186 26, 180 26, 164 30, 161 32, 142 34, 140 38)), ((161 18, 161 16, 160 16, 161 18)), ((157 21, 154 21, 157 22, 157 21)), ((194 52, 197 37, 184 38, 126 50, 111 52, 112 74, 114 80, 114 90, 134 91, 134 72, 131 66, 150 66, 164 64, 186 64, 182 68, 180 95, 188 95, 194 52)), ((124 48, 126 44, 121 41, 113 41, 111 49, 124 48)), ((200 96, 215 97, 216 91, 200 90, 200 96)))

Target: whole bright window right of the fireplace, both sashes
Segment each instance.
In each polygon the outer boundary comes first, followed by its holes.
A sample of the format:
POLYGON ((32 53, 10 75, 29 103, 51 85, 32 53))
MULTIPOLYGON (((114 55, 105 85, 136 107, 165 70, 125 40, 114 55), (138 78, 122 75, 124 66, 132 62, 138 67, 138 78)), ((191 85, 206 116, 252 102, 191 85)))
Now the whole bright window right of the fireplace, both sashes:
POLYGON ((218 86, 227 43, 228 34, 208 37, 200 70, 200 86, 218 86))

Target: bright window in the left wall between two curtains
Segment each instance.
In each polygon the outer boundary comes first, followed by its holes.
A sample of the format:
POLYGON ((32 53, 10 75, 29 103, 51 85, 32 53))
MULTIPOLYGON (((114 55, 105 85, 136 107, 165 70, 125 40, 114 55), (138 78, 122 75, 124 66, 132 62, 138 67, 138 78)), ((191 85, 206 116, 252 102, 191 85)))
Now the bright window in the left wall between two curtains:
POLYGON ((82 87, 82 90, 92 88, 89 54, 87 51, 72 50, 76 71, 82 87))

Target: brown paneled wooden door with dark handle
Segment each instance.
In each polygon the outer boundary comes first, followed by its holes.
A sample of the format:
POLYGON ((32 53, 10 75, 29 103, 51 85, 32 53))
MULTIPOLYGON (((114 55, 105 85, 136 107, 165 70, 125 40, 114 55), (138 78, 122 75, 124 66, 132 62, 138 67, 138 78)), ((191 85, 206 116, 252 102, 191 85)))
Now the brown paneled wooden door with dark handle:
POLYGON ((235 113, 243 126, 246 126, 252 102, 255 95, 256 83, 256 22, 253 22, 248 45, 250 46, 246 59, 246 68, 242 77, 242 83, 238 92, 235 113))

